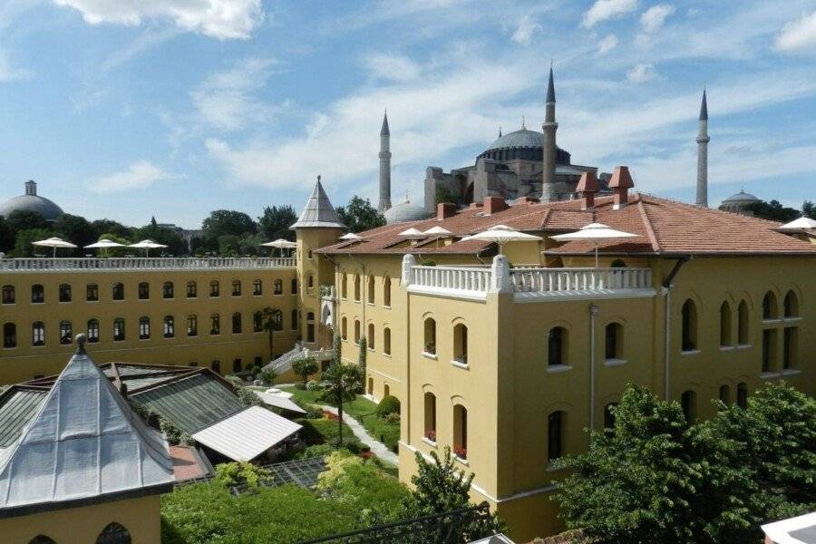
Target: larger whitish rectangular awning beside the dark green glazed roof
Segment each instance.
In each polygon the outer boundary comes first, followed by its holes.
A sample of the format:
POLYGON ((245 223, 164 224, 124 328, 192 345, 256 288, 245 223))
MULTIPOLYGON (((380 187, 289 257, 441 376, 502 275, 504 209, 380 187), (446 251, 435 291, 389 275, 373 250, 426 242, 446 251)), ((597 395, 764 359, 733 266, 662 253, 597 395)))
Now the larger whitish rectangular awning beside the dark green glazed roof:
POLYGON ((251 461, 301 426, 260 406, 249 406, 192 434, 192 439, 235 461, 251 461))

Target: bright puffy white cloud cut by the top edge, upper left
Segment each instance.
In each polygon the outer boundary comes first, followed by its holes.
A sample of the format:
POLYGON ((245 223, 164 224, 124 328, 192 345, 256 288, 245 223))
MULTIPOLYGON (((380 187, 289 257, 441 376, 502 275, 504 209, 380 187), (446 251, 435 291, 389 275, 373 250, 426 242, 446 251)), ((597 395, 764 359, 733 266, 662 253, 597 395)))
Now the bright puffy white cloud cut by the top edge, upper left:
POLYGON ((88 24, 170 20, 189 32, 220 40, 247 39, 264 20, 261 0, 53 0, 73 7, 88 24))

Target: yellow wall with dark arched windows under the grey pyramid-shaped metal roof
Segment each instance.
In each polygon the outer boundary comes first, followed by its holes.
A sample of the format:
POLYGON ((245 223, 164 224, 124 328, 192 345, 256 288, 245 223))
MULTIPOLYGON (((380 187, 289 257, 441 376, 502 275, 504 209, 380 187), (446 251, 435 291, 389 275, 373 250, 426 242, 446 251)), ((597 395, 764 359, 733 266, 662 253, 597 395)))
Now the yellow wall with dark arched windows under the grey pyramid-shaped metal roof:
POLYGON ((37 535, 44 535, 57 544, 93 544, 102 529, 113 521, 128 529, 133 544, 158 544, 159 496, 6 518, 0 520, 0 541, 27 544, 37 535))

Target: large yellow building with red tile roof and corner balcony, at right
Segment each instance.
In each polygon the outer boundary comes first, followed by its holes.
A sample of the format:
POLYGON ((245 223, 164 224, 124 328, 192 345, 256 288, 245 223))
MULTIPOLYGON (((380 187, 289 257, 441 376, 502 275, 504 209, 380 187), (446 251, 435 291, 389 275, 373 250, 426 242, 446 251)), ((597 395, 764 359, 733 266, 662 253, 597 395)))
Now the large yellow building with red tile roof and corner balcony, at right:
POLYGON ((401 480, 415 452, 451 446, 476 475, 472 499, 527 541, 561 529, 551 461, 582 451, 583 429, 611 424, 628 383, 690 419, 772 380, 816 393, 816 248, 774 223, 632 186, 618 168, 612 197, 440 205, 435 218, 324 248, 298 229, 301 252, 335 268, 319 277, 335 287, 321 325, 342 336, 347 363, 365 336, 366 393, 401 401, 401 480), (592 222, 637 237, 601 245, 598 267, 592 245, 549 238, 592 222), (461 239, 497 225, 542 241, 497 257, 495 244, 461 239), (401 234, 433 227, 444 231, 401 234))

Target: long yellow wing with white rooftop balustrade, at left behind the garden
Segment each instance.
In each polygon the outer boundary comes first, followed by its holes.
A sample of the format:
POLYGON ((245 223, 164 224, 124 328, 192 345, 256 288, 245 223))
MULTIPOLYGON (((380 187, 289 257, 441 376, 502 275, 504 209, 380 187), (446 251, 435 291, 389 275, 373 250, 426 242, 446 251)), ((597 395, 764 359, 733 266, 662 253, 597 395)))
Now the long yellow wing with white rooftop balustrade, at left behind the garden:
POLYGON ((240 372, 295 345, 295 258, 0 259, 0 384, 57 374, 88 335, 99 363, 192 364, 240 372))

